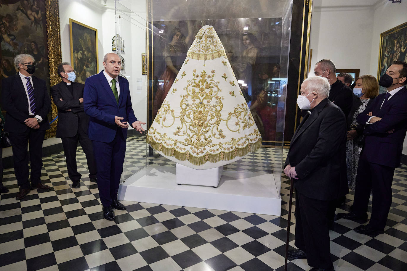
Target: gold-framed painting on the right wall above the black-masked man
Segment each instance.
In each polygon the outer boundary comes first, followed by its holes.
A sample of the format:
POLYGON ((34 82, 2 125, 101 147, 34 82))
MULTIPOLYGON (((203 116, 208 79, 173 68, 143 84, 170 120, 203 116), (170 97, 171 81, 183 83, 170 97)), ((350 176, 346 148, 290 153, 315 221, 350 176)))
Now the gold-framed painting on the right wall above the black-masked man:
MULTIPOLYGON (((380 34, 377 78, 385 74, 393 61, 407 62, 407 22, 380 34)), ((380 93, 385 91, 384 87, 380 87, 380 93)))

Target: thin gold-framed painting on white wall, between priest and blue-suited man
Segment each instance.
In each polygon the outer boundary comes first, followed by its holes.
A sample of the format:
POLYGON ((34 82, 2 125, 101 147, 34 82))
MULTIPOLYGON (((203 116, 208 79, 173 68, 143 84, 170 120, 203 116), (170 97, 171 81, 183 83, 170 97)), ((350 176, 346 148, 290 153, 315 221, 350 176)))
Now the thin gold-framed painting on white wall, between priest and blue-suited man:
POLYGON ((77 82, 85 84, 86 78, 97 74, 98 30, 69 19, 71 63, 77 76, 77 82))

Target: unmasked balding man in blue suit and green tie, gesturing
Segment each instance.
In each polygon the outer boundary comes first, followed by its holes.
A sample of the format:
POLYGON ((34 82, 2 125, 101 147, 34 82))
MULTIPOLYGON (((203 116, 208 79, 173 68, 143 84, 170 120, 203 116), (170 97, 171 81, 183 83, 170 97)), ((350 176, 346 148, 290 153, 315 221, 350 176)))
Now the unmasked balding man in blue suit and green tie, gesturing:
POLYGON ((125 159, 129 124, 144 132, 131 108, 129 81, 120 74, 120 57, 114 53, 103 57, 105 70, 86 79, 83 106, 89 115, 88 137, 92 140, 96 160, 99 197, 103 217, 114 220, 113 208, 126 210, 117 200, 120 176, 125 159))

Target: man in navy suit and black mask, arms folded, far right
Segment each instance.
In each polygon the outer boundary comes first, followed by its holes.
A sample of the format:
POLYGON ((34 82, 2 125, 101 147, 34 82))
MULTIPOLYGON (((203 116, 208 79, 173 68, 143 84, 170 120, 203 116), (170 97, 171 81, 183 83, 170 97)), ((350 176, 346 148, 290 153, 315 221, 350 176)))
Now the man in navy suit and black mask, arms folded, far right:
POLYGON ((373 207, 370 221, 354 230, 361 234, 382 234, 392 204, 394 169, 400 166, 407 130, 407 63, 394 61, 379 80, 387 92, 378 95, 357 116, 365 125, 365 145, 359 158, 352 211, 339 217, 364 223, 368 220, 370 190, 373 207))

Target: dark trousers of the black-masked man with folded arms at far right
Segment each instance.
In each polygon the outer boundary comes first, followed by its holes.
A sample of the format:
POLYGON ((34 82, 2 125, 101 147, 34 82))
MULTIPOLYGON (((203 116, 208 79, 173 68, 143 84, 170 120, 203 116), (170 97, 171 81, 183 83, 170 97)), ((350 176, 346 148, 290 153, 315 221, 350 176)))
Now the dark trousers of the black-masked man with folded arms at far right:
POLYGON ((384 230, 392 205, 394 169, 394 167, 368 162, 362 150, 356 175, 352 212, 361 217, 367 215, 370 191, 373 189, 372 215, 369 225, 377 230, 384 230))

